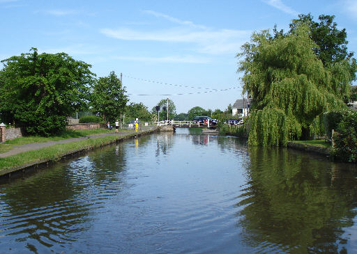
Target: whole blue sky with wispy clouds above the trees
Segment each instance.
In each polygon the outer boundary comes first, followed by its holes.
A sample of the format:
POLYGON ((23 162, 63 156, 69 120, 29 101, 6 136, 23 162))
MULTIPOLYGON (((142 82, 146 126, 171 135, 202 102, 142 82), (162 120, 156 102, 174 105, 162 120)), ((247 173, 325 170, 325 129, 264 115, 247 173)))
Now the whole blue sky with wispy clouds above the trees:
POLYGON ((253 31, 286 30, 299 13, 335 15, 357 57, 357 0, 0 0, 0 59, 63 51, 97 77, 122 72, 130 102, 149 110, 162 94, 177 113, 223 110, 242 97, 241 45, 253 31))

